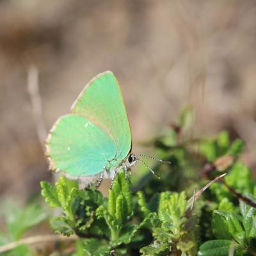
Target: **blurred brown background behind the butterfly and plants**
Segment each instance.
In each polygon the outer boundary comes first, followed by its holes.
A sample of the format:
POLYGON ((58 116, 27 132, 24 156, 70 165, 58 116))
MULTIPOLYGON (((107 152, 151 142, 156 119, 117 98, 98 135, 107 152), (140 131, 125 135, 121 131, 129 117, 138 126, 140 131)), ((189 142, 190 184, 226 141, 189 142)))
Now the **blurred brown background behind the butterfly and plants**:
POLYGON ((50 179, 28 70, 38 68, 42 124, 68 113, 93 76, 120 82, 134 144, 196 110, 196 133, 228 129, 256 146, 256 1, 1 0, 0 195, 50 179))

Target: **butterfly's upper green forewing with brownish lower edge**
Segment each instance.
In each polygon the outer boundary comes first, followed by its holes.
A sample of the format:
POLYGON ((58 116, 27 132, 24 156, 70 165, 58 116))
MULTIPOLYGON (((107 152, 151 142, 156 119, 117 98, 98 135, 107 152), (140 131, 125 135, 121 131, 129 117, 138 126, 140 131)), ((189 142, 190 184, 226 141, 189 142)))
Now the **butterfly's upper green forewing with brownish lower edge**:
POLYGON ((115 158, 124 159, 131 150, 131 129, 122 92, 114 74, 106 71, 86 84, 72 106, 72 113, 81 115, 113 140, 115 158))

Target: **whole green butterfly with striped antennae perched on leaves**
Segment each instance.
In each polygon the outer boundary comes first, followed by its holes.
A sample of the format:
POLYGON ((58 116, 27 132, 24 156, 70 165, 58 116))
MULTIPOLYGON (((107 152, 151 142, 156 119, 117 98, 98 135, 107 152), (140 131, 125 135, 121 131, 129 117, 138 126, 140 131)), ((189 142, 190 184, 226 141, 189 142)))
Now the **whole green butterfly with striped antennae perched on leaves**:
POLYGON ((71 178, 99 175, 97 186, 113 173, 112 186, 122 169, 127 178, 127 171, 140 159, 131 148, 131 127, 122 92, 111 71, 86 84, 71 114, 56 121, 46 140, 51 170, 61 170, 71 178))

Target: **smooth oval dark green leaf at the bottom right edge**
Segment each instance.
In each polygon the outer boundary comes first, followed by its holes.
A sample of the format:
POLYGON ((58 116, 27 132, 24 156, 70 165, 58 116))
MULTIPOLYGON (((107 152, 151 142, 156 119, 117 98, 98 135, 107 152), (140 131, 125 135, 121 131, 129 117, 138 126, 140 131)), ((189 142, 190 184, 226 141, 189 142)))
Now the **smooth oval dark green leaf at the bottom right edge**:
POLYGON ((236 250, 237 243, 230 240, 211 240, 202 244, 198 256, 227 256, 230 250, 236 250))

